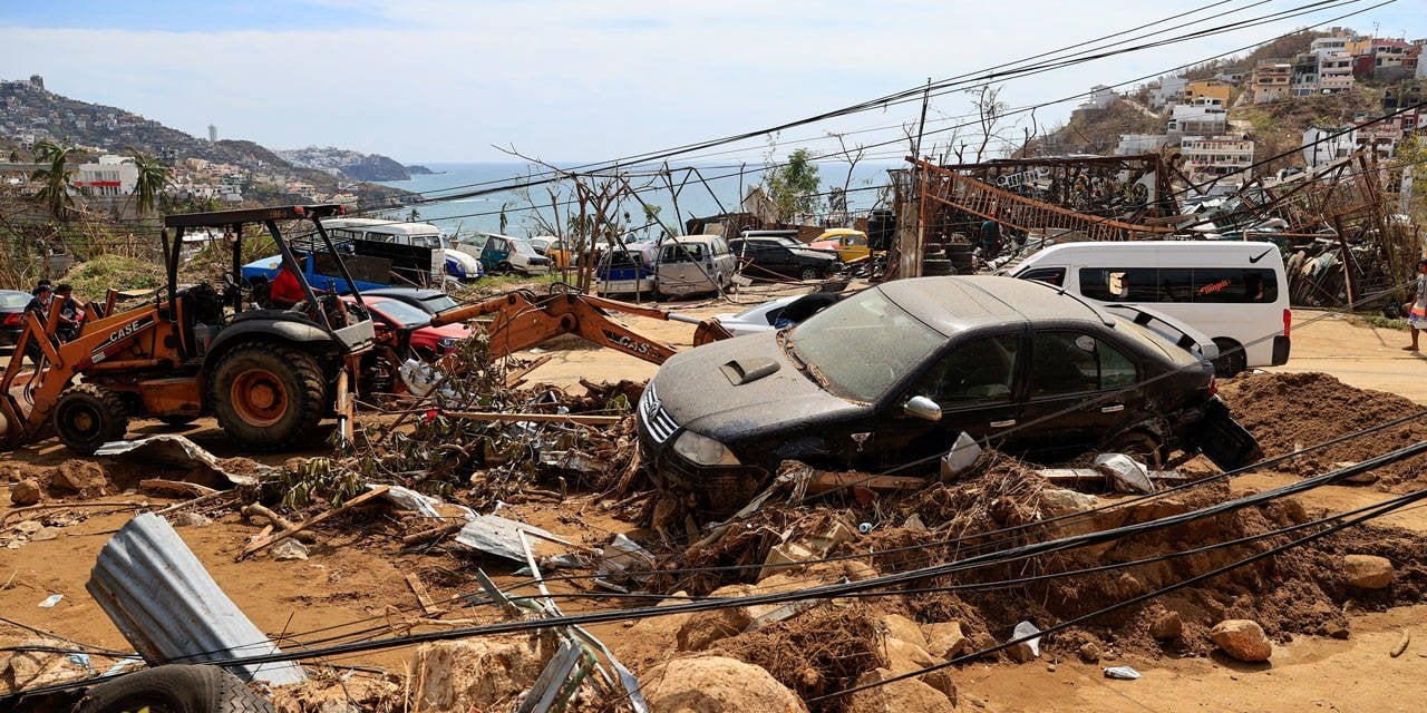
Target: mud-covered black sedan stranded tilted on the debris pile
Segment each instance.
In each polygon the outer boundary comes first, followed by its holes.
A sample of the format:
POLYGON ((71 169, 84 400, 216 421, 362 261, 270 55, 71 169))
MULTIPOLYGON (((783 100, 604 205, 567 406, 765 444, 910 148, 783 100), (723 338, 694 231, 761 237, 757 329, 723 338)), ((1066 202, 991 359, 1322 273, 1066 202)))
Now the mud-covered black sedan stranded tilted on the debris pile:
POLYGON ((665 362, 639 401, 644 453, 722 515, 778 465, 932 463, 960 432, 1035 461, 1087 449, 1257 456, 1213 365, 1132 319, 1006 277, 899 279, 778 332, 665 362))

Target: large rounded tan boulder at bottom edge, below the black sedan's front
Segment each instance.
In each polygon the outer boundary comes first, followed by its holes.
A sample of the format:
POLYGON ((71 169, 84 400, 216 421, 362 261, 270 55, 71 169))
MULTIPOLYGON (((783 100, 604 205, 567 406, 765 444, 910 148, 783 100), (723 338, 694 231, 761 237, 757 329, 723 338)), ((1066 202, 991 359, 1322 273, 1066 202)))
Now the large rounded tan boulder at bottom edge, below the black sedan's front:
POLYGON ((639 676, 654 713, 806 713, 808 707, 771 673, 722 656, 661 663, 639 676))

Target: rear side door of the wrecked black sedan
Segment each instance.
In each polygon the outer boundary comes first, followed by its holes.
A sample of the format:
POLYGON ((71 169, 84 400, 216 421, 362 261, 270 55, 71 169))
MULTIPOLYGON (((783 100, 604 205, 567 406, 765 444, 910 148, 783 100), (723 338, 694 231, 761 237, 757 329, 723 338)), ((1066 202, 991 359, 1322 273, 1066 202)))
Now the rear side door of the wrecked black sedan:
POLYGON ((1109 441, 1143 414, 1142 368, 1132 351, 1082 329, 1036 329, 1023 374, 1025 402, 1007 445, 1055 461, 1109 441))

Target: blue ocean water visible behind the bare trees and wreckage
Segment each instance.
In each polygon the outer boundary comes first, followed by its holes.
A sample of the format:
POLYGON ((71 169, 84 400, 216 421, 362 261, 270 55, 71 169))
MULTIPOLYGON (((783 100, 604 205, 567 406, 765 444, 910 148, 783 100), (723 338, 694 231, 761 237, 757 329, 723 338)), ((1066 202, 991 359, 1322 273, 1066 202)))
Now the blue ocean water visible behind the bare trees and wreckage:
MULTIPOLYGON (((417 220, 432 222, 447 232, 458 235, 502 232, 502 214, 505 217, 504 232, 511 235, 537 235, 545 232, 541 230, 541 220, 552 222, 551 195, 544 185, 445 200, 451 195, 524 181, 531 173, 541 173, 541 167, 521 163, 424 163, 421 165, 437 173, 412 175, 410 181, 382 181, 382 185, 420 193, 424 197, 422 202, 401 211, 385 212, 385 217, 407 220, 415 211, 417 220), (532 207, 532 204, 538 207, 532 207)), ((679 227, 679 232, 691 217, 739 210, 739 195, 762 178, 762 170, 755 165, 708 164, 695 167, 704 175, 706 185, 696 177, 681 184, 678 181, 684 181, 684 173, 675 173, 676 198, 671 195, 662 180, 631 178, 631 184, 639 190, 639 198, 649 205, 658 205, 659 220, 671 228, 679 227)), ((886 185, 888 168, 896 167, 895 164, 858 164, 848 184, 848 210, 866 211, 873 208, 880 193, 876 187, 886 185)), ((823 191, 833 187, 842 188, 848 178, 848 164, 818 164, 818 175, 823 181, 823 191)), ((555 200, 561 202, 559 211, 564 222, 568 220, 568 211, 574 208, 571 190, 568 185, 551 185, 551 188, 557 190, 555 200)), ((616 220, 626 230, 634 231, 635 237, 658 235, 659 227, 648 225, 651 221, 645 218, 644 207, 638 201, 626 200, 621 208, 621 215, 616 220)))

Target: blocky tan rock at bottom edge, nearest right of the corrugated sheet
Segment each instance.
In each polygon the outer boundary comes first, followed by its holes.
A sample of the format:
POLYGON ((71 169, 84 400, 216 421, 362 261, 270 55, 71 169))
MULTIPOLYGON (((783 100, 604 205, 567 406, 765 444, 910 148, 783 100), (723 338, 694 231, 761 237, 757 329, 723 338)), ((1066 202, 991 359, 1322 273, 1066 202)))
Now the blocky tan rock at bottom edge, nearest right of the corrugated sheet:
POLYGON ((532 639, 462 639, 417 649, 412 677, 427 713, 495 710, 529 690, 545 662, 532 639))

